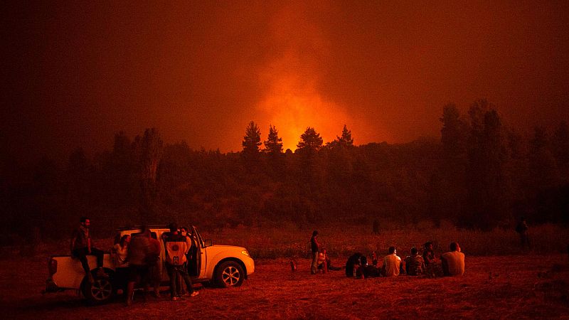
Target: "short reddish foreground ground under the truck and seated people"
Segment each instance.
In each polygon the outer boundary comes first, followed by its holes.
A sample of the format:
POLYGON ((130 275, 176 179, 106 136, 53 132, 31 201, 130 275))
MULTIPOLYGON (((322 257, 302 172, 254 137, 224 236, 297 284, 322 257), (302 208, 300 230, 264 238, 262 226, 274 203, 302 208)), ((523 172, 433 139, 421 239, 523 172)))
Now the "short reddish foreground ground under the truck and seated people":
MULTIPOLYGON (((335 265, 343 265, 337 261, 335 265)), ((257 260, 242 287, 200 287, 171 302, 142 294, 132 307, 87 306, 76 292, 42 295, 47 260, 0 260, 3 319, 569 319, 567 255, 468 257, 464 277, 352 279, 311 275, 309 261, 257 260)), ((166 288, 164 288, 166 290, 166 288)))

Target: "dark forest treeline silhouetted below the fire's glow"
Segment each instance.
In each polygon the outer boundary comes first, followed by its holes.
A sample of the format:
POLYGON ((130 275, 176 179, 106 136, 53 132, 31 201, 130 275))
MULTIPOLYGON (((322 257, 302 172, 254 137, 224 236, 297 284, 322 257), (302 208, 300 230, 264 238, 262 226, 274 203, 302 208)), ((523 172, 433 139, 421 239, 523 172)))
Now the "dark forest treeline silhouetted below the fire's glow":
POLYGON ((109 234, 170 220, 201 228, 450 220, 487 230, 522 215, 568 223, 565 122, 519 134, 486 100, 467 114, 447 105, 440 120, 440 141, 408 144, 356 146, 346 126, 324 144, 309 127, 294 152, 282 150, 275 127, 263 141, 255 122, 245 128, 243 151, 227 154, 164 144, 155 129, 134 139, 121 132, 112 150, 92 159, 76 149, 63 166, 42 159, 18 178, 3 174, 3 242, 29 232, 66 238, 80 215, 109 234))

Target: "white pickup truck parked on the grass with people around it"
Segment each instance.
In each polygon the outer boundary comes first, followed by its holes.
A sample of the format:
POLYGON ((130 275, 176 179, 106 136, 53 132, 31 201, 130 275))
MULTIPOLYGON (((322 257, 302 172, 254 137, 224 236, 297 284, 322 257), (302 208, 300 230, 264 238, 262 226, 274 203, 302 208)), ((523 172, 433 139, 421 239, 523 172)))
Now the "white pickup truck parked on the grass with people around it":
MULTIPOLYGON (((162 233, 169 232, 164 227, 149 227, 152 238, 162 242, 162 233)), ((193 232, 196 238, 197 248, 195 257, 188 261, 188 271, 193 283, 214 282, 220 287, 239 287, 243 279, 247 279, 250 274, 255 272, 255 262, 244 247, 233 245, 213 245, 211 240, 203 240, 196 230, 191 227, 188 230, 193 232)), ((117 237, 139 233, 140 228, 124 228, 119 230, 117 237)), ((160 260, 164 266, 165 250, 164 244, 161 245, 160 260)), ((103 268, 110 277, 97 277, 97 272, 93 272, 97 265, 95 256, 87 256, 89 266, 95 282, 90 284, 85 271, 78 259, 70 255, 53 255, 48 261, 49 277, 46 280, 46 290, 44 292, 60 292, 67 289, 79 290, 83 296, 92 304, 108 302, 117 292, 118 284, 115 277, 115 266, 109 253, 105 253, 103 268)), ((169 284, 166 268, 162 267, 161 279, 163 285, 169 284)))

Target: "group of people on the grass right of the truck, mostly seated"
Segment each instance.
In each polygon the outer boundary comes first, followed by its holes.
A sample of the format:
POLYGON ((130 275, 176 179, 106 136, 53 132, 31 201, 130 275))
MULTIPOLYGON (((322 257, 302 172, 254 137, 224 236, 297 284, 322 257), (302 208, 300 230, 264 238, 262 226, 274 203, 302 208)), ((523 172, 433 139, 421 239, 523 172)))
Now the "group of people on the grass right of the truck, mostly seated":
MULTIPOLYGON (((327 270, 341 269, 332 267, 331 260, 326 254, 326 249, 321 248, 318 242, 317 230, 314 230, 312 233, 310 242, 312 249, 312 274, 315 274, 318 270, 325 273, 327 270)), ((423 247, 422 255, 419 254, 417 247, 412 247, 411 254, 403 260, 397 255, 395 247, 389 247, 388 255, 383 257, 381 266, 378 265, 376 252, 371 253, 371 263, 368 263, 365 255, 356 252, 346 262, 346 277, 365 279, 368 277, 394 277, 399 274, 408 274, 410 276, 425 274, 430 277, 462 276, 464 274, 464 253, 461 252, 457 242, 450 244, 450 251, 442 254, 440 260, 435 257, 432 242, 426 242, 423 247)))

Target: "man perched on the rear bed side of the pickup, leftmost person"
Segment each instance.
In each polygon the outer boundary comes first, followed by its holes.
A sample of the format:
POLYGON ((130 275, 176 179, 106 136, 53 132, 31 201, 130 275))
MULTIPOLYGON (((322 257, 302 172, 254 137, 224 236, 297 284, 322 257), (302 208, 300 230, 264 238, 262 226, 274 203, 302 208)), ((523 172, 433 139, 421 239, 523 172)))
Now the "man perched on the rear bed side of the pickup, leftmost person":
POLYGON ((91 269, 89 267, 89 262, 87 262, 87 255, 94 255, 97 257, 97 277, 109 277, 105 270, 102 269, 102 259, 105 252, 96 247, 92 247, 91 235, 89 232, 89 227, 91 225, 90 218, 81 217, 79 228, 73 231, 73 236, 71 237, 71 256, 76 257, 80 260, 83 270, 87 275, 89 282, 93 284, 95 279, 91 274, 91 269))

